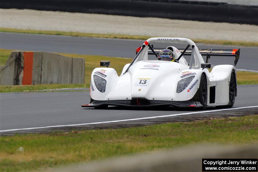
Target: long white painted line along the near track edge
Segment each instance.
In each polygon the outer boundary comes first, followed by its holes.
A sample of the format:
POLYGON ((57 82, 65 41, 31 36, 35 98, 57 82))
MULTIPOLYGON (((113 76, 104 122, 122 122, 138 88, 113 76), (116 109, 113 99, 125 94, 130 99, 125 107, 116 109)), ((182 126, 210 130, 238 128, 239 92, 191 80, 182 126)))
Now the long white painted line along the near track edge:
POLYGON ((0 130, 0 132, 19 131, 19 130, 33 130, 33 129, 42 129, 42 128, 55 128, 55 127, 64 127, 64 126, 80 126, 80 125, 91 125, 91 124, 101 124, 101 123, 117 123, 117 122, 123 122, 123 121, 146 120, 146 119, 163 118, 163 117, 169 117, 169 116, 190 115, 190 114, 196 114, 196 113, 208 113, 208 112, 217 112, 217 111, 224 111, 224 110, 245 109, 245 108, 252 108, 252 107, 258 107, 258 106, 237 107, 237 108, 218 109, 218 110, 206 110, 206 111, 178 113, 178 114, 162 115, 162 116, 151 116, 151 117, 143 117, 143 118, 133 118, 133 119, 127 119, 127 120, 103 121, 103 122, 96 122, 96 123, 83 123, 83 124, 42 126, 42 127, 33 127, 33 128, 20 128, 20 129, 11 129, 11 130, 0 130))

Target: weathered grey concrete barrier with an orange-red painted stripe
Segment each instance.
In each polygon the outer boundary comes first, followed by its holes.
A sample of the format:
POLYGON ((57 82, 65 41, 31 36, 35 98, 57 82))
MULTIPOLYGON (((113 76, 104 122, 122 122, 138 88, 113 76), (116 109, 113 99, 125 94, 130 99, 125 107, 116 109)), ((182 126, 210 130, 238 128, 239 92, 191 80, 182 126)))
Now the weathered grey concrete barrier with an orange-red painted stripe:
POLYGON ((12 52, 0 68, 1 85, 84 83, 82 58, 49 52, 12 52))

